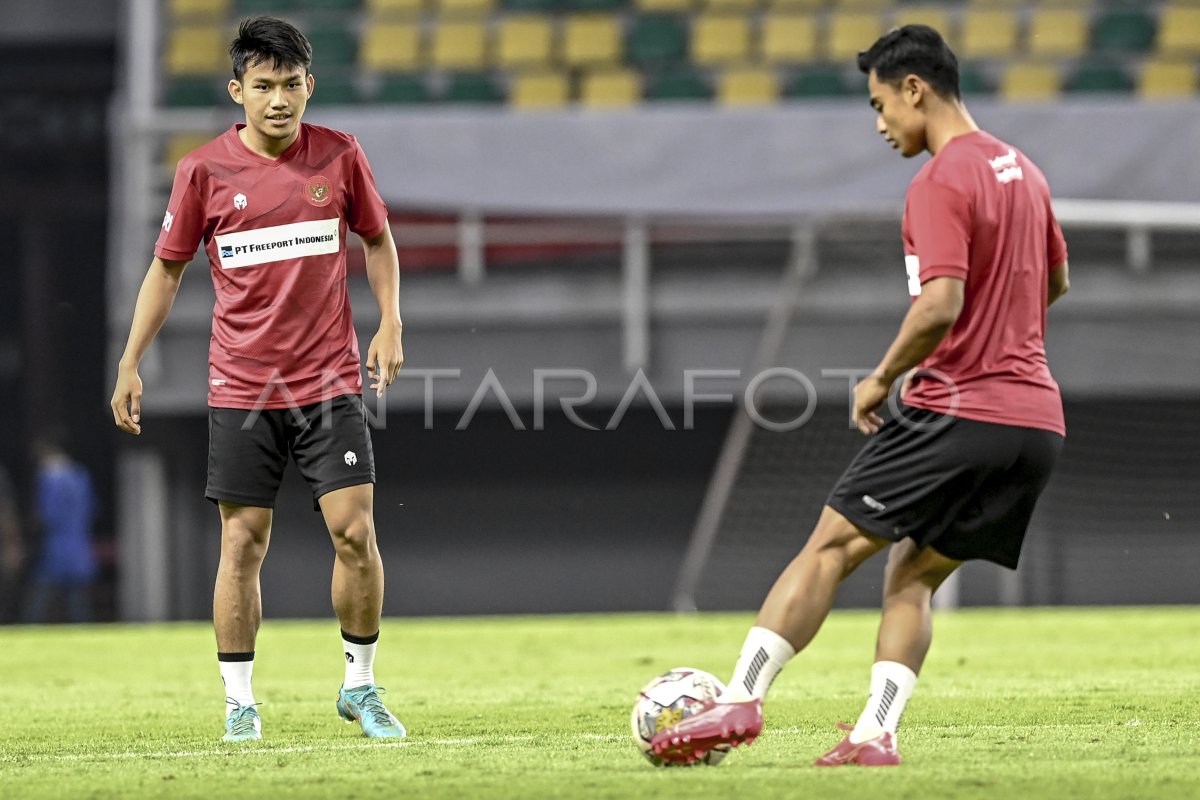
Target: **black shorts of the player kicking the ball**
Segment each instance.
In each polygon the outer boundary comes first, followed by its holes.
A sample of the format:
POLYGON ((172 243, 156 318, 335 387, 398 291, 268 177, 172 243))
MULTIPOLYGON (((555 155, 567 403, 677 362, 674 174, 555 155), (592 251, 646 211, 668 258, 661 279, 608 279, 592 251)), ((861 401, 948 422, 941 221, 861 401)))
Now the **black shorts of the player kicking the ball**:
POLYGON ((828 504, 863 530, 959 561, 1016 569, 1063 438, 905 407, 858 453, 828 504))

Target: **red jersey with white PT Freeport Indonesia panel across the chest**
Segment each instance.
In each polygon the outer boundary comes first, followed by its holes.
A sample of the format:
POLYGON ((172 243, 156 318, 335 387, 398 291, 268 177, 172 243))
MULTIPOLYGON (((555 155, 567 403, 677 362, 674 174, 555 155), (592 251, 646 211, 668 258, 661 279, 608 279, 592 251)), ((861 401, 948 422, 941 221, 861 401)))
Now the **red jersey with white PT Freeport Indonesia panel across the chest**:
POLYGON ((301 124, 270 160, 234 125, 179 162, 158 258, 185 261, 200 240, 216 306, 209 405, 287 408, 360 393, 362 373, 346 285, 346 231, 388 224, 353 136, 301 124))

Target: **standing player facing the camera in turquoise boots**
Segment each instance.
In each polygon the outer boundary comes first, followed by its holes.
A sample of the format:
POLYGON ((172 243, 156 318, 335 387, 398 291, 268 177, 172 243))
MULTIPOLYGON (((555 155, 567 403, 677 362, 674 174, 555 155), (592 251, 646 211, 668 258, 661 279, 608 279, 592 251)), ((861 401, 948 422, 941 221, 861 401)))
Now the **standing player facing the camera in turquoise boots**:
POLYGON ((246 110, 179 162, 113 391, 113 420, 142 433, 138 363, 170 311, 200 240, 216 288, 209 348, 209 475, 221 511, 212 599, 228 741, 262 738, 251 690, 258 583, 288 456, 334 541, 334 609, 346 680, 337 712, 372 738, 404 727, 379 699, 373 661, 383 609, 374 459, 346 284, 346 233, 362 237, 379 331, 367 351, 379 396, 404 361, 398 264, 388 209, 354 137, 301 124, 312 48, 292 25, 246 20, 229 47, 229 95, 246 110))

